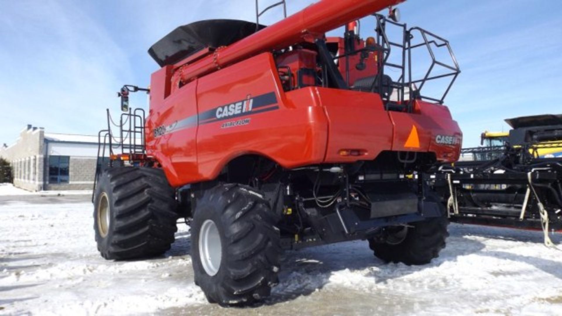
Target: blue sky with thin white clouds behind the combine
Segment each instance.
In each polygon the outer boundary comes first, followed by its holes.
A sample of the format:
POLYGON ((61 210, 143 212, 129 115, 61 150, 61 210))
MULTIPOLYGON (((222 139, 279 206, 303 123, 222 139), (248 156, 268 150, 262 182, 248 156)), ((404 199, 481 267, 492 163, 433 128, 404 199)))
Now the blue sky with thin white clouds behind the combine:
MULTIPOLYGON (((261 0, 268 2, 267 0, 261 0)), ((105 109, 117 115, 123 84, 146 86, 157 64, 147 49, 178 25, 254 19, 254 0, 2 1, 0 144, 25 124, 48 132, 95 134, 105 109)), ((288 0, 289 14, 312 3, 288 0)), ((445 100, 477 146, 506 118, 560 114, 562 1, 409 0, 402 21, 450 40, 463 73, 445 100)), ((268 13, 264 22, 279 19, 268 13)), ((368 36, 372 21, 362 22, 368 36)), ((133 106, 145 106, 146 95, 133 106)))

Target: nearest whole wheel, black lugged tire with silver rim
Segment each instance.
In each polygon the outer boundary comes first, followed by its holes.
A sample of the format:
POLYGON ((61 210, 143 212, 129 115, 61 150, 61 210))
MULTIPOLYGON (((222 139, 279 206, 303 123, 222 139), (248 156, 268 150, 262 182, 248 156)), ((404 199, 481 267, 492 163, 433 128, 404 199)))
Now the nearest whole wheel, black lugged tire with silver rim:
POLYGON ((276 215, 262 193, 220 184, 198 198, 191 224, 195 282, 207 300, 250 304, 277 285, 280 236, 276 215))

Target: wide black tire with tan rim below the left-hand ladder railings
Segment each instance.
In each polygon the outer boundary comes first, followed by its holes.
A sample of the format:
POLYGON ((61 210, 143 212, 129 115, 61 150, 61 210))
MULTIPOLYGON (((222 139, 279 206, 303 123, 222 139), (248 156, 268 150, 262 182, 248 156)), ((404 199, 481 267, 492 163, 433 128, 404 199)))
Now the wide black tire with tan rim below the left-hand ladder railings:
POLYGON ((105 259, 164 254, 178 230, 175 190, 156 168, 117 167, 99 176, 94 196, 94 231, 105 259))

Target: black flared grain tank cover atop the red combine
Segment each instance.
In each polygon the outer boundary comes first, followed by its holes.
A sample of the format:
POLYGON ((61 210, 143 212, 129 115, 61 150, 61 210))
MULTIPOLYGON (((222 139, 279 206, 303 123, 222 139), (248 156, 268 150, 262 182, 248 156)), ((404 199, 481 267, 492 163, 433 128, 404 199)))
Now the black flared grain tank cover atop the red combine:
MULTIPOLYGON (((260 25, 259 29, 265 28, 260 25)), ((239 20, 203 20, 180 26, 158 40, 148 54, 165 66, 175 64, 205 47, 228 46, 256 32, 256 24, 239 20)))

